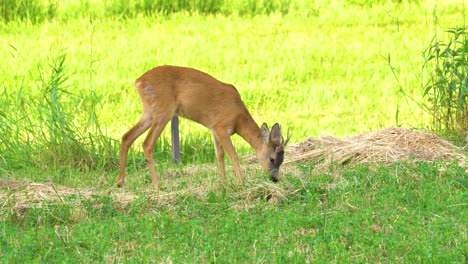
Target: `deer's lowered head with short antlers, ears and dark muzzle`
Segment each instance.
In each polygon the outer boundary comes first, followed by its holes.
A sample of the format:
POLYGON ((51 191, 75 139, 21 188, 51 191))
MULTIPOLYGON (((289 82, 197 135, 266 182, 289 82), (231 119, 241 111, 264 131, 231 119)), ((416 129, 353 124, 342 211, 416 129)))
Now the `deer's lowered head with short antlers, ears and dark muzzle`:
POLYGON ((276 123, 271 128, 263 123, 262 127, 263 146, 257 153, 258 161, 263 168, 263 171, 271 176, 271 180, 274 182, 278 181, 279 167, 283 163, 284 159, 284 148, 288 143, 291 135, 284 140, 281 134, 281 128, 276 123))

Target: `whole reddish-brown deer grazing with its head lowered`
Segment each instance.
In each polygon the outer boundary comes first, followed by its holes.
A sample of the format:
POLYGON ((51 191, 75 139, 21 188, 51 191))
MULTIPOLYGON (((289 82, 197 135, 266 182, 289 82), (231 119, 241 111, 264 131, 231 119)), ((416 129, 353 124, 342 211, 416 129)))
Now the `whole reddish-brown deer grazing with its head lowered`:
POLYGON ((122 187, 125 181, 125 166, 130 146, 149 128, 143 151, 153 186, 158 190, 158 177, 153 161, 154 145, 174 115, 191 119, 212 131, 219 173, 223 178, 226 151, 236 175, 242 182, 239 158, 231 141, 231 135, 237 133, 255 150, 265 173, 270 174, 274 182, 278 181, 284 147, 290 136, 288 135, 285 141, 278 124, 274 124, 271 131, 266 124, 260 128, 233 85, 220 82, 195 69, 160 66, 136 79, 135 89, 143 104, 143 114, 140 121, 122 136, 117 181, 119 187, 122 187))

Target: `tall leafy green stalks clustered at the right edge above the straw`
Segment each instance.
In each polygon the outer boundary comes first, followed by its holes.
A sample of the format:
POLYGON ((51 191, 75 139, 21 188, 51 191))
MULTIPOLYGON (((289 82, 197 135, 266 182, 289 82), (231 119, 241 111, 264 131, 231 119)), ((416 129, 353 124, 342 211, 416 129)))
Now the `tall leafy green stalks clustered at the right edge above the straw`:
POLYGON ((424 105, 436 130, 463 135, 468 131, 468 27, 447 34, 447 41, 435 35, 424 52, 424 105))

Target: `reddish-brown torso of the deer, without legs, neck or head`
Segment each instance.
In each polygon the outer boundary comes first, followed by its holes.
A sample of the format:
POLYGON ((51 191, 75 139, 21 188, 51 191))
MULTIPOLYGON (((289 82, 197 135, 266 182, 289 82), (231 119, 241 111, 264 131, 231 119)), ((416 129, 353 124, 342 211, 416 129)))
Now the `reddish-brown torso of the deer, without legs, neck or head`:
POLYGON ((152 112, 173 109, 208 128, 219 122, 237 123, 237 118, 248 113, 233 85, 191 68, 153 68, 135 81, 135 87, 144 108, 152 112))

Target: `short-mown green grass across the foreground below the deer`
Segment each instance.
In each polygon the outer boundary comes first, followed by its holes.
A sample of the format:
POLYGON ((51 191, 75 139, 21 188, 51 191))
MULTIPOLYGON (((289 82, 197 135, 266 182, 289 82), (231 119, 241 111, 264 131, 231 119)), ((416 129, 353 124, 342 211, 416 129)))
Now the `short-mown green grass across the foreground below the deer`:
POLYGON ((105 194, 65 196, 20 211, 10 207, 11 199, 2 208, 0 258, 466 262, 466 171, 457 164, 322 172, 302 164, 279 185, 249 178, 250 187, 235 190, 207 182, 199 182, 202 191, 179 192, 169 203, 141 193, 124 207, 105 194))

